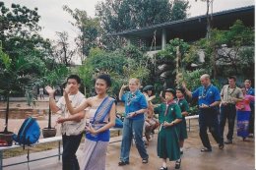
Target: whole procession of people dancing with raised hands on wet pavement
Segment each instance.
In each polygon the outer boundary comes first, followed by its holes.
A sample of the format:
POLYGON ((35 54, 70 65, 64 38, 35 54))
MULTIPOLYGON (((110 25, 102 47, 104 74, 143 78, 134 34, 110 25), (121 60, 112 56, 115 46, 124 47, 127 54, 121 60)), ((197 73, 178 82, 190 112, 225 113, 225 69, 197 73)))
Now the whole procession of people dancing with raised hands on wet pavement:
MULTIPOLYGON (((181 154, 183 154, 184 140, 187 139, 185 116, 188 115, 189 104, 185 99, 188 97, 197 98, 199 105, 199 128, 200 138, 204 145, 202 152, 212 151, 208 138, 209 128, 219 148, 224 148, 224 124, 228 120, 228 134, 225 143, 232 143, 234 119, 237 110, 237 135, 248 137, 248 121, 253 116, 248 104, 254 104, 254 90, 251 83, 245 81, 244 91, 235 85, 236 78, 229 77, 228 85, 224 85, 220 92, 217 86, 211 84, 210 76, 205 74, 200 78, 202 86, 191 92, 183 84, 175 89, 166 88, 163 91, 162 103, 153 105, 147 91, 140 91, 141 83, 138 79, 130 79, 128 85, 122 85, 119 91, 119 100, 125 103, 123 122, 122 142, 120 150, 119 166, 130 163, 130 147, 134 139, 142 163, 149 162, 143 132, 145 125, 145 113, 149 113, 150 119, 153 113, 159 114, 159 119, 154 120, 154 128, 160 125, 158 135, 157 153, 162 161, 160 170, 167 170, 166 160, 175 161, 175 168, 181 165, 181 154), (246 84, 248 84, 246 87, 246 84), (126 88, 129 90, 125 91, 126 88), (247 94, 252 94, 247 96, 247 94), (219 121, 219 110, 221 114, 219 121), (247 104, 247 105, 246 105, 247 104), (236 110, 235 110, 236 109, 236 110), (247 116, 243 113, 246 112, 247 116), (241 115, 242 118, 240 118, 241 115), (246 122, 246 121, 247 122, 246 122), (239 132, 239 133, 238 133, 239 132)), ((49 93, 49 103, 53 112, 59 113, 57 123, 61 124, 63 139, 63 170, 80 169, 76 151, 81 142, 83 133, 86 134, 85 156, 81 169, 95 170, 105 169, 106 148, 110 139, 109 129, 115 124, 116 106, 114 99, 107 95, 111 86, 108 75, 99 75, 96 78, 96 96, 85 98, 79 91, 81 80, 76 75, 67 79, 67 85, 63 96, 56 103, 54 100, 55 90, 46 86, 49 93), (85 112, 85 109, 89 109, 85 112), (84 119, 89 121, 84 121, 84 119)), ((254 107, 254 105, 253 105, 254 107)), ((147 118, 148 119, 148 118, 147 118)))

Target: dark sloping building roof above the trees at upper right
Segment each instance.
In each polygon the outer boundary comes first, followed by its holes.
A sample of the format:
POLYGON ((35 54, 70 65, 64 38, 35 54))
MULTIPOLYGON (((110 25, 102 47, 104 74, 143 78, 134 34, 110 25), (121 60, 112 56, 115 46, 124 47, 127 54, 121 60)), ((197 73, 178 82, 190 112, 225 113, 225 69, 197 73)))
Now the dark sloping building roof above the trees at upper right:
MULTIPOLYGON (((231 10, 226 10, 222 12, 217 12, 212 15, 211 24, 213 28, 227 29, 236 20, 241 20, 245 26, 254 27, 254 11, 255 6, 247 6, 242 8, 235 8, 231 10)), ((165 28, 167 30, 167 36, 178 36, 185 40, 193 40, 197 38, 196 36, 202 37, 206 33, 207 16, 197 16, 184 20, 178 20, 173 22, 166 22, 160 25, 150 26, 146 28, 135 28, 130 30, 124 30, 121 32, 111 33, 109 35, 120 35, 120 36, 137 36, 147 38, 152 37, 154 31, 157 30, 157 36, 160 36, 161 29, 165 28), (195 35, 191 35, 192 32, 196 32, 195 35), (172 35, 168 35, 171 33, 172 35), (189 38, 187 39, 186 37, 189 38), (180 37, 181 36, 181 37, 180 37), (183 37, 182 37, 183 36, 183 37)))

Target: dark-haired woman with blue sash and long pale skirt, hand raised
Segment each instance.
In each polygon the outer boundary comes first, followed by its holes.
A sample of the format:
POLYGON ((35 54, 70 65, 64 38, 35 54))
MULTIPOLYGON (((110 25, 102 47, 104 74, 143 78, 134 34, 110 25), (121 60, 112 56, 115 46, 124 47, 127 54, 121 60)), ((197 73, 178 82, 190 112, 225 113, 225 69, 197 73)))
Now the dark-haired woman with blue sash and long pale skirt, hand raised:
POLYGON ((111 81, 108 75, 96 78, 96 96, 88 98, 79 107, 73 108, 68 99, 70 85, 65 88, 64 97, 71 114, 84 112, 89 107, 86 125, 85 156, 82 159, 83 170, 105 169, 106 147, 110 139, 109 129, 115 124, 114 99, 107 96, 111 81))

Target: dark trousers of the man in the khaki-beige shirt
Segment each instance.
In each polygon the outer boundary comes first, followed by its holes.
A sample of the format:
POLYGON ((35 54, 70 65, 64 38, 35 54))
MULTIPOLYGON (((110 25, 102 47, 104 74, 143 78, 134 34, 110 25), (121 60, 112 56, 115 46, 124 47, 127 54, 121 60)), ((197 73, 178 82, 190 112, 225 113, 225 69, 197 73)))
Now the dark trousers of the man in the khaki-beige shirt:
POLYGON ((230 141, 232 140, 235 115, 236 115, 236 109, 234 104, 222 105, 221 114, 220 114, 220 131, 221 131, 222 139, 224 139, 224 126, 225 126, 225 120, 227 119, 228 133, 226 135, 226 139, 230 141))

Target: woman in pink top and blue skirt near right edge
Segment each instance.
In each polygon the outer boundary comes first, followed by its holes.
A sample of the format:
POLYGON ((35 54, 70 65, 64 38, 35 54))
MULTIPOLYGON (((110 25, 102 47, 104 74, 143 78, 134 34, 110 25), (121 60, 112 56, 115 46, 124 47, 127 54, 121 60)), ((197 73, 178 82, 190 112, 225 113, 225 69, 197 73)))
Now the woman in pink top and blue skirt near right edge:
POLYGON ((237 115, 237 136, 243 141, 249 136, 249 120, 251 114, 250 102, 254 101, 253 95, 246 94, 245 87, 241 88, 244 98, 235 105, 237 115))

